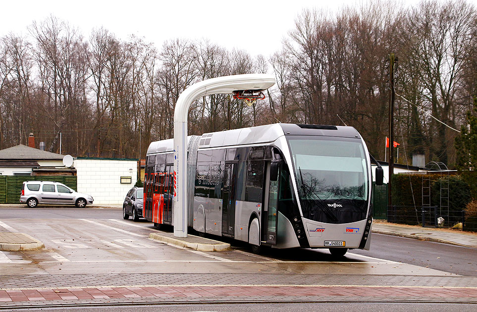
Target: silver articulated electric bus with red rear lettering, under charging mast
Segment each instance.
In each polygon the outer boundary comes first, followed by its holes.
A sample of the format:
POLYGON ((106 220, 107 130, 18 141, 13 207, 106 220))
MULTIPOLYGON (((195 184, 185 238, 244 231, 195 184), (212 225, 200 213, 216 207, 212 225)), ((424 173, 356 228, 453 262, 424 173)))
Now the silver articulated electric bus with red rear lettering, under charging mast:
MULTIPOLYGON (((156 226, 172 224, 173 159, 173 139, 150 144, 144 216, 156 226)), ((187 171, 188 225, 200 233, 254 252, 370 248, 371 160, 353 127, 277 123, 189 136, 187 171)))

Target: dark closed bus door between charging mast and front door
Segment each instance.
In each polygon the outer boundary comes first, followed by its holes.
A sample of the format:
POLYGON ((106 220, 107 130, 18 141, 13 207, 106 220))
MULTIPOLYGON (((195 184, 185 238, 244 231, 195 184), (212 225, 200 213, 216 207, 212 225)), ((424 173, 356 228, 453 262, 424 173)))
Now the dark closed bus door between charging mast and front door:
POLYGON ((233 236, 235 227, 235 182, 237 164, 225 163, 222 188, 222 235, 233 236))

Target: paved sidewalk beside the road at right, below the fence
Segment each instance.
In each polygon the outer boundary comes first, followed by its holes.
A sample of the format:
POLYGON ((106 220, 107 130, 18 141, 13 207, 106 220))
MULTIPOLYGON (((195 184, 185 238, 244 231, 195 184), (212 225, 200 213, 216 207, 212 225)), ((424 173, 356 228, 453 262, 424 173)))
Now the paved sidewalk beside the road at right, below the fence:
POLYGON ((387 223, 382 220, 374 220, 372 232, 477 248, 477 233, 473 232, 387 223))

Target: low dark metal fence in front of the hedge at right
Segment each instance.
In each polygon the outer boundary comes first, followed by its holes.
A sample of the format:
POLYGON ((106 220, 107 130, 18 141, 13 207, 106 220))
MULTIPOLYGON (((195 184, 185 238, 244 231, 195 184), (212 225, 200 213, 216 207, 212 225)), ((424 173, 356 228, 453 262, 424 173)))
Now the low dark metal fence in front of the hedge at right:
POLYGON ((465 210, 446 210, 445 213, 440 213, 436 206, 388 206, 387 221, 423 227, 462 227, 466 231, 477 231, 477 214, 467 213, 465 210))

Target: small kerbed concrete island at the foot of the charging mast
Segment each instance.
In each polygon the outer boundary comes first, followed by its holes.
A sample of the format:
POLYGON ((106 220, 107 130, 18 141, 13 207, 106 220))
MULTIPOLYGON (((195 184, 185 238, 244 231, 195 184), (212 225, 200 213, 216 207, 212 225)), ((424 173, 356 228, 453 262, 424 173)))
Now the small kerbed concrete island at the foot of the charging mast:
POLYGON ((230 249, 230 244, 214 241, 205 237, 188 234, 187 237, 175 237, 174 233, 160 232, 151 233, 149 238, 167 244, 169 246, 192 249, 197 251, 226 251, 230 249))

